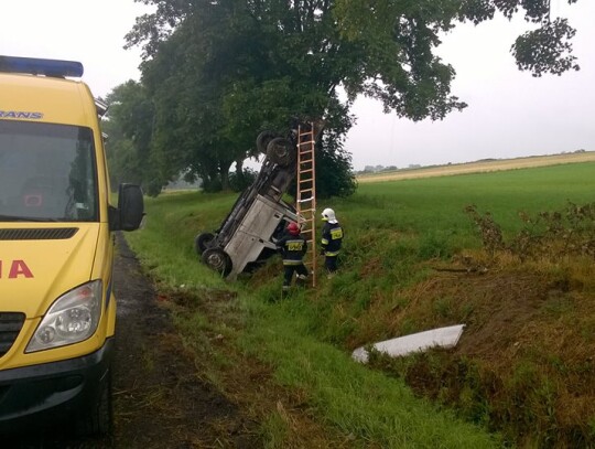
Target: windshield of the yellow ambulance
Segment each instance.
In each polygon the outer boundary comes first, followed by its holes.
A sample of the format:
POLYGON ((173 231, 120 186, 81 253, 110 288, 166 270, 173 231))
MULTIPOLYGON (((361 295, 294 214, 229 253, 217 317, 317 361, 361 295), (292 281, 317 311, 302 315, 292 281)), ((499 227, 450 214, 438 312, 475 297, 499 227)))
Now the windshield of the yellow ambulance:
POLYGON ((0 120, 0 222, 98 221, 89 128, 0 120))

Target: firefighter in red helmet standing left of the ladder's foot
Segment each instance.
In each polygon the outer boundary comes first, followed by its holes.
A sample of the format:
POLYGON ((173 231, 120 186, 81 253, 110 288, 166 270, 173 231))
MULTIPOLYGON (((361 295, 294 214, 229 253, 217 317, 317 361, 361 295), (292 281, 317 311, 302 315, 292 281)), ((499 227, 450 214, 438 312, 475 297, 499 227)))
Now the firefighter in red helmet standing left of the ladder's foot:
POLYGON ((293 274, 298 274, 296 284, 303 285, 307 279, 307 269, 304 265, 304 255, 307 250, 307 242, 300 234, 298 223, 290 223, 283 237, 277 240, 277 249, 283 256, 283 293, 291 288, 293 274))

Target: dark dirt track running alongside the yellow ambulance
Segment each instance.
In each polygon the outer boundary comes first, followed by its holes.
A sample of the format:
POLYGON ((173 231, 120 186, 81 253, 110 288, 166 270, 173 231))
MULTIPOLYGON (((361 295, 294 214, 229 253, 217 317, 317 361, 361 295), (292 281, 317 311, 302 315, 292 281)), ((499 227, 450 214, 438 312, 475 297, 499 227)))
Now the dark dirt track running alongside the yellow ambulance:
MULTIPOLYGON (((109 438, 71 439, 68 429, 17 436, 2 448, 185 449, 261 448, 256 424, 201 377, 166 308, 123 238, 117 238, 118 298, 113 366, 115 431, 109 438)), ((161 298, 163 300, 163 298, 161 298)))

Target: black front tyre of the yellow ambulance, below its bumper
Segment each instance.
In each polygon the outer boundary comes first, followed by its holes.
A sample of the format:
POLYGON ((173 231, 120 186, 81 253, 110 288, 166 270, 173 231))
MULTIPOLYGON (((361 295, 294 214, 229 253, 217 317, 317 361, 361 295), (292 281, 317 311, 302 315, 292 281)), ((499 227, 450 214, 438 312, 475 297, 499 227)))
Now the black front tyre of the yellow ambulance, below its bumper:
POLYGON ((101 385, 101 392, 95 404, 90 404, 86 413, 78 417, 80 436, 107 436, 113 429, 113 404, 111 391, 111 368, 108 370, 101 385))

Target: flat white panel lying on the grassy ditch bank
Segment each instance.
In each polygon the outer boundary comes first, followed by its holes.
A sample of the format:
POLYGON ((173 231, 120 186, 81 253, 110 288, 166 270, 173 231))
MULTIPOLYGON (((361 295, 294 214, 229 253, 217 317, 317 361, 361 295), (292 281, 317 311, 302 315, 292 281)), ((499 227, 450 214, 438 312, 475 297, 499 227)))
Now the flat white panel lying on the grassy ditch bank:
MULTIPOLYGON (((371 346, 378 352, 394 357, 408 355, 412 352, 421 352, 430 348, 454 348, 463 334, 463 328, 465 328, 465 324, 432 329, 431 331, 381 341, 371 346)), ((357 362, 368 363, 368 351, 365 346, 358 348, 351 353, 351 357, 357 362)))

